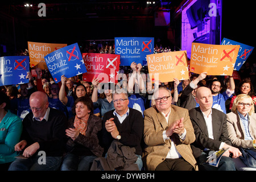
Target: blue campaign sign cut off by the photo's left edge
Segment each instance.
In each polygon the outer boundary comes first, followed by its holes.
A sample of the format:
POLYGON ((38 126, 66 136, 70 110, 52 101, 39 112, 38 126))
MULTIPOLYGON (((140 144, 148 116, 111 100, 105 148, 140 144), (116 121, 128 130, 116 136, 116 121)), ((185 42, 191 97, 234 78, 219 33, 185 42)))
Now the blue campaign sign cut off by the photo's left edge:
POLYGON ((28 83, 26 76, 29 71, 29 56, 0 57, 0 86, 28 83))

